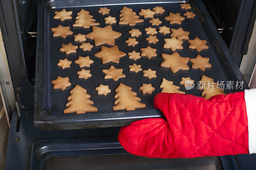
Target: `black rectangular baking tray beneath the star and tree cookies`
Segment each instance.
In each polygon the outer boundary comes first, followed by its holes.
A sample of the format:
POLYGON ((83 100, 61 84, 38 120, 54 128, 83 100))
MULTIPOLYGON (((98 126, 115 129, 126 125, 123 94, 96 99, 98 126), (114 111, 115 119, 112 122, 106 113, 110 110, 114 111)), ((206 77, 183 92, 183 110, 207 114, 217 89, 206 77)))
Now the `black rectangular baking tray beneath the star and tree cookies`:
MULTIPOLYGON (((169 12, 177 13, 180 15, 186 12, 186 10, 180 9, 180 4, 185 1, 126 1, 126 0, 109 0, 109 1, 80 1, 80 0, 54 0, 54 1, 40 1, 38 8, 38 26, 37 26, 37 51, 36 51, 36 85, 35 85, 35 115, 34 124, 39 129, 45 130, 62 130, 62 129, 83 129, 83 128, 100 128, 100 127, 116 127, 129 125, 130 123, 149 117, 162 117, 161 112, 154 108, 153 99, 155 95, 161 92, 159 87, 162 83, 162 79, 173 81, 174 85, 180 86, 180 90, 186 92, 186 94, 193 94, 200 96, 202 91, 197 89, 197 82, 201 79, 202 75, 213 78, 217 81, 244 81, 244 78, 236 66, 233 57, 230 55, 228 48, 220 36, 216 26, 214 25, 209 13, 207 12, 204 4, 200 0, 189 1, 192 6, 191 10, 196 13, 194 19, 185 18, 181 25, 170 25, 169 21, 164 17, 169 15, 169 12), (161 54, 172 54, 170 49, 163 48, 164 38, 170 38, 170 34, 163 35, 157 33, 156 36, 159 41, 156 44, 148 44, 145 39, 148 35, 144 29, 156 27, 158 31, 159 26, 152 26, 148 21, 150 18, 144 19, 143 23, 138 23, 135 26, 118 25, 120 10, 124 7, 132 8, 134 12, 140 12, 140 9, 151 9, 155 6, 162 6, 165 9, 163 14, 156 14, 154 18, 160 18, 162 24, 160 26, 167 26, 170 28, 182 27, 184 31, 189 31, 189 39, 199 37, 202 40, 207 40, 209 49, 202 50, 200 53, 194 49, 189 49, 189 43, 183 41, 183 50, 176 50, 183 57, 195 58, 200 54, 204 57, 210 58, 212 68, 206 69, 204 72, 198 69, 192 69, 191 63, 188 62, 189 70, 178 71, 173 74, 170 69, 160 67, 160 63, 163 62, 161 54), (75 54, 66 55, 64 52, 60 52, 61 44, 68 44, 71 42, 73 45, 81 45, 79 42, 75 42, 73 36, 82 33, 87 34, 92 31, 92 28, 80 28, 73 27, 75 23, 76 14, 84 9, 90 12, 90 15, 96 19, 96 22, 100 23, 100 27, 104 27, 104 18, 108 15, 101 15, 98 10, 100 7, 107 7, 110 9, 109 15, 116 17, 116 24, 112 24, 114 31, 122 33, 122 36, 117 38, 115 45, 118 46, 120 51, 125 53, 140 51, 140 48, 146 48, 148 45, 152 48, 156 48, 157 57, 148 59, 141 57, 140 59, 133 61, 129 59, 128 55, 120 58, 120 63, 106 63, 102 64, 101 59, 94 56, 95 53, 100 51, 101 46, 93 47, 90 52, 84 52, 81 48, 77 48, 75 54), (67 11, 73 11, 72 19, 61 22, 59 19, 53 19, 54 11, 60 11, 65 8, 67 11), (65 39, 61 37, 52 36, 52 27, 58 25, 70 26, 70 30, 74 32, 72 35, 68 35, 65 39), (142 35, 136 38, 139 41, 135 47, 127 46, 125 41, 130 37, 128 31, 132 28, 138 28, 142 32, 142 35), (78 56, 90 56, 90 59, 94 61, 90 68, 92 77, 87 80, 79 79, 77 71, 81 69, 74 63, 78 59, 78 56), (68 58, 72 61, 71 67, 61 69, 57 66, 59 59, 68 58), (148 79, 143 77, 142 71, 135 73, 129 71, 129 65, 133 63, 140 64, 143 70, 152 69, 156 70, 157 78, 148 79), (101 71, 103 69, 109 69, 111 65, 116 68, 123 68, 125 78, 120 78, 118 81, 112 79, 104 79, 105 74, 101 71), (71 86, 66 90, 53 89, 51 80, 61 77, 69 77, 71 86), (179 84, 182 77, 190 77, 195 80, 195 87, 191 90, 186 90, 179 84), (141 98, 141 102, 146 104, 146 108, 139 108, 135 111, 113 111, 114 95, 117 86, 123 83, 132 87, 132 91, 137 92, 137 96, 141 98), (155 91, 152 95, 145 94, 139 90, 142 83, 151 83, 155 87, 155 91), (109 85, 111 93, 107 96, 98 95, 95 87, 100 84, 109 85), (65 104, 68 102, 67 98, 70 95, 69 92, 76 85, 80 85, 87 90, 87 93, 91 95, 90 100, 94 102, 93 106, 98 108, 98 112, 91 112, 86 114, 63 114, 63 110, 66 108, 65 104)), ((142 16, 140 16, 142 18, 142 16)), ((86 42, 90 42, 94 45, 94 41, 87 39, 86 42)), ((111 47, 104 45, 106 47, 111 47)), ((245 81, 244 81, 245 82, 245 81)), ((244 83, 242 89, 225 89, 225 93, 241 91, 248 88, 244 83)))

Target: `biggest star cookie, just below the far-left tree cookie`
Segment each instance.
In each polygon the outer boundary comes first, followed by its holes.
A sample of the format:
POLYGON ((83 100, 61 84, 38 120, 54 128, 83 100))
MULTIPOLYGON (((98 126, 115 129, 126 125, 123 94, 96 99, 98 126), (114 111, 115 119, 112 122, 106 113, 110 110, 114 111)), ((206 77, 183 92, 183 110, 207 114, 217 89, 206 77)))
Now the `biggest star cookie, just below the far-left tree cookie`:
POLYGON ((122 33, 118 33, 112 30, 111 25, 103 28, 98 26, 92 26, 92 32, 85 35, 86 38, 94 40, 95 46, 102 44, 115 45, 115 39, 120 37, 122 33))

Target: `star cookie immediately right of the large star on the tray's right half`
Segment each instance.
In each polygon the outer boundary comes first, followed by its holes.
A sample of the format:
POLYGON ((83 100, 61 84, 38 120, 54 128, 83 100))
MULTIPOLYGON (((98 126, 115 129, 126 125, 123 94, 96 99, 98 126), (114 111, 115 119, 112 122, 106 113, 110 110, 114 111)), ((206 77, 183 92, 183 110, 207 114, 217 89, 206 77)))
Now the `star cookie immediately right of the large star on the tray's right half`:
POLYGON ((204 71, 206 68, 211 68, 212 65, 209 63, 209 58, 197 55, 196 58, 190 58, 189 61, 192 63, 193 69, 199 69, 204 71))

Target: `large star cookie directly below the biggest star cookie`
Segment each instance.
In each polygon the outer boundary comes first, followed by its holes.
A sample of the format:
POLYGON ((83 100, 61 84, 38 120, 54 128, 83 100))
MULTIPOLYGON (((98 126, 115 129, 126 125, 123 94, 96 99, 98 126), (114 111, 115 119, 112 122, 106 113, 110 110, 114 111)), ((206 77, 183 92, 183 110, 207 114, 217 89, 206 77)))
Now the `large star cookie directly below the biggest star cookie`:
POLYGON ((101 46, 101 51, 94 54, 95 57, 101 58, 103 64, 108 62, 119 63, 119 58, 125 55, 126 53, 119 51, 117 45, 110 48, 101 46))

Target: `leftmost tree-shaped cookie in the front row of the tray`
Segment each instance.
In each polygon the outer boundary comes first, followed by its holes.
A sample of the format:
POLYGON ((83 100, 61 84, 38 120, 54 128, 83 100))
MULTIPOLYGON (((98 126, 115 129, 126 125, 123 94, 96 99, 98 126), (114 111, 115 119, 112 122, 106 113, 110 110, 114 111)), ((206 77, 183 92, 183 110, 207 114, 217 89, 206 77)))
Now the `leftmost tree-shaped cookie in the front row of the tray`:
POLYGON ((93 107, 93 101, 89 100, 91 97, 89 94, 86 93, 86 89, 83 87, 76 85, 70 91, 70 96, 68 97, 68 103, 66 104, 66 108, 63 113, 76 113, 82 114, 86 112, 97 112, 98 109, 93 107))

